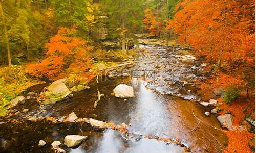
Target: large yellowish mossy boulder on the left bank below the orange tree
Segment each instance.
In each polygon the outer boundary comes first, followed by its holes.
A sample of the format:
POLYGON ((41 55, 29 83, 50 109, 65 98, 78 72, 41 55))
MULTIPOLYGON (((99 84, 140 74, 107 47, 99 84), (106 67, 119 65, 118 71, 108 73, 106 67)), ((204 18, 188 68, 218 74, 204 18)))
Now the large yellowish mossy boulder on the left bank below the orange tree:
POLYGON ((48 86, 48 91, 45 92, 46 98, 59 101, 69 97, 72 92, 65 85, 65 82, 67 82, 67 79, 59 79, 48 86))

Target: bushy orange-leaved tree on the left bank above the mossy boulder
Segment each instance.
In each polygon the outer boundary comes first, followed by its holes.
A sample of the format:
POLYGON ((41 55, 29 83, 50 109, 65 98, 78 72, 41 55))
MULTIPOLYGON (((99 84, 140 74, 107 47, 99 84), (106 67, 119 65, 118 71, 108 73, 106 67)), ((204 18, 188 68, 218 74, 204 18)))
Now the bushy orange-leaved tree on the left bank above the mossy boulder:
POLYGON ((59 79, 69 73, 84 76, 87 81, 94 75, 88 72, 92 65, 88 53, 93 49, 81 38, 71 37, 75 30, 60 28, 58 34, 46 44, 46 59, 40 63, 27 65, 26 71, 39 78, 59 79))

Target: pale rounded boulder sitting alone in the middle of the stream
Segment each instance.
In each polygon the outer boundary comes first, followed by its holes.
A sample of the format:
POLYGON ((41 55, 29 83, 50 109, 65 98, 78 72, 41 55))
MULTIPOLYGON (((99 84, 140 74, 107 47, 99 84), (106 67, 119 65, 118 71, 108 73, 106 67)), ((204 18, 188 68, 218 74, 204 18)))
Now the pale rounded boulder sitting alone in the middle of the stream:
POLYGON ((120 84, 113 90, 114 94, 118 98, 131 98, 134 97, 134 91, 132 86, 120 84))

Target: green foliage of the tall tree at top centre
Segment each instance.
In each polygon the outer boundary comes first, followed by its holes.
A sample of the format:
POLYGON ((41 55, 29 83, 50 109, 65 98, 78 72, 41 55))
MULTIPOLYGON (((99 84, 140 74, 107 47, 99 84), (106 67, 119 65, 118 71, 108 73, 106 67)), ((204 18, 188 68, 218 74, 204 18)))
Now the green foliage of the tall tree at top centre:
POLYGON ((102 12, 109 16, 107 23, 112 35, 110 37, 120 38, 124 34, 130 37, 142 27, 143 0, 102 0, 100 4, 102 12))

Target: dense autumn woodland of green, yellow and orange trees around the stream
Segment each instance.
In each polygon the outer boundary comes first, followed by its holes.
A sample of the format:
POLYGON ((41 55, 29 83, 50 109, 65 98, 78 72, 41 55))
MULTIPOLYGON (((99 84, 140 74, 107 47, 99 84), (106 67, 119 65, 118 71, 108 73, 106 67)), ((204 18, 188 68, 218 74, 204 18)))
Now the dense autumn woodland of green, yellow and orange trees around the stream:
MULTIPOLYGON (((129 55, 138 35, 191 47, 207 64, 207 79, 198 82, 203 97, 221 89, 226 103, 242 97, 254 107, 252 0, 0 0, 1 88, 23 74, 89 82, 98 70, 93 59, 105 54, 104 42, 129 55)), ((24 88, 1 89, 2 109, 24 88)))

